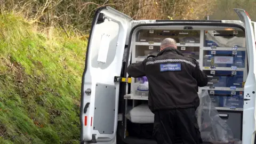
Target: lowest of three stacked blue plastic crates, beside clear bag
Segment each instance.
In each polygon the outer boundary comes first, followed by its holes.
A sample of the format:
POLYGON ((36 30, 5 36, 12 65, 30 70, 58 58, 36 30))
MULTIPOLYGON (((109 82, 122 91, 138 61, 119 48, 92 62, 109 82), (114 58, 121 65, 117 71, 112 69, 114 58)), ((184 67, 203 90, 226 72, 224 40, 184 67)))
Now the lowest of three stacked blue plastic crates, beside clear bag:
POLYGON ((243 91, 208 91, 215 107, 243 108, 243 91))

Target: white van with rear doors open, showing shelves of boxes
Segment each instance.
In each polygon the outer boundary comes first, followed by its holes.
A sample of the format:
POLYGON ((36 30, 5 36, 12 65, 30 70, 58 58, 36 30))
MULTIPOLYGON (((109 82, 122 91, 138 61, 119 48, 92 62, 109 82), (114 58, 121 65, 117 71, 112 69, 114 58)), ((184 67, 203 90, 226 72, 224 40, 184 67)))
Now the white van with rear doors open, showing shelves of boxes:
POLYGON ((209 75, 208 85, 199 90, 209 91, 234 137, 243 144, 254 143, 256 23, 246 11, 234 10, 241 21, 135 21, 111 7, 98 9, 82 79, 81 143, 156 143, 150 138, 152 123, 125 117, 148 99, 146 92, 137 92, 137 80, 128 78, 126 70, 130 63, 157 54, 165 37, 174 38, 178 49, 209 75))

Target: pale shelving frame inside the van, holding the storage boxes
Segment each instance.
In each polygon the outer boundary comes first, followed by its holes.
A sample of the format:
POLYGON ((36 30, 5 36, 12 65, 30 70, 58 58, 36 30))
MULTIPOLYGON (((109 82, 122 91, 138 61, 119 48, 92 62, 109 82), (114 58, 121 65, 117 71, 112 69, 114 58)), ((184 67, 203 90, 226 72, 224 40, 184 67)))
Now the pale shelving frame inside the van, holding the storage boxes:
MULTIPOLYGON (((153 34, 155 30, 162 30, 162 31, 172 31, 172 30, 181 30, 182 31, 183 26, 177 26, 177 27, 173 27, 173 28, 159 28, 159 27, 142 27, 140 29, 144 29, 144 30, 149 30, 149 33, 153 34)), ((223 30, 223 27, 205 27, 205 28, 196 28, 194 27, 193 29, 194 31, 199 31, 199 43, 177 43, 177 47, 178 50, 180 50, 182 52, 182 50, 186 50, 187 47, 199 47, 199 59, 196 59, 199 62, 199 67, 201 68, 201 70, 211 70, 211 71, 243 71, 243 85, 246 81, 246 77, 247 77, 247 55, 246 55, 246 48, 245 47, 237 47, 237 46, 233 46, 233 47, 217 47, 217 46, 205 46, 205 31, 211 31, 211 30, 223 30), (233 54, 237 54, 237 52, 239 51, 244 51, 245 52, 245 58, 244 58, 244 67, 211 67, 211 66, 204 66, 204 51, 232 51, 233 54)), ((138 34, 136 32, 138 32, 139 30, 134 30, 133 36, 132 36, 132 43, 131 43, 131 49, 132 49, 132 58, 131 58, 131 62, 139 62, 139 61, 143 61, 148 55, 137 55, 136 54, 136 49, 138 49, 139 46, 148 46, 148 50, 155 50, 155 47, 158 47, 157 50, 159 50, 159 46, 161 45, 161 43, 159 42, 159 38, 157 42, 154 42, 152 39, 154 38, 149 38, 149 40, 147 41, 146 39, 143 39, 143 42, 139 42, 138 41, 138 34)), ((186 33, 189 32, 189 30, 186 30, 186 33)), ((233 32, 234 33, 234 32, 233 32)), ((239 34, 240 35, 240 34, 239 34)), ((243 35, 243 34, 242 34, 243 35)), ((172 37, 172 36, 165 36, 165 37, 172 37)), ((163 39, 163 38, 162 38, 163 39)), ((198 40, 198 39, 197 39, 198 40)), ((197 41, 198 42, 198 41, 197 41)), ((208 45, 208 44, 207 44, 208 45)), ((226 44, 227 45, 227 44, 226 44)), ((194 51, 193 51, 194 52, 194 51)), ((214 53, 214 52, 213 52, 214 53)), ((233 57, 235 57, 233 55, 233 57)), ((234 61, 234 59, 233 59, 234 61)), ((232 74, 235 74, 236 72, 232 72, 232 74)), ((136 82, 135 78, 132 78, 132 82, 131 82, 131 93, 130 94, 126 94, 124 95, 124 99, 125 99, 125 114, 127 114, 127 101, 128 100, 132 100, 132 107, 137 106, 137 101, 140 100, 148 100, 148 96, 144 95, 137 95, 135 94, 135 87, 134 86, 136 82)), ((234 93, 236 92, 244 92, 244 86, 242 87, 214 87, 214 86, 205 86, 205 87, 199 87, 198 89, 198 93, 201 93, 202 90, 209 90, 209 91, 230 91, 234 93)), ((213 96, 214 97, 214 96, 213 96)), ((243 108, 236 108, 236 107, 215 107, 218 112, 220 113, 220 117, 225 119, 228 118, 229 116, 231 117, 235 117, 235 116, 241 116, 243 115, 243 108), (227 117, 225 117, 227 116, 227 117)), ((225 119, 225 121, 227 123, 229 123, 231 126, 234 126, 236 124, 234 123, 230 123, 230 121, 228 121, 227 119, 225 119)), ((126 135, 126 118, 124 119, 125 122, 125 134, 126 135)), ((228 124, 228 125, 229 125, 228 124)), ((241 125, 241 123, 239 123, 238 125, 241 125)), ((230 126, 230 127, 231 127, 230 126)), ((237 125, 236 125, 237 126, 237 125)), ((239 127, 239 126, 237 126, 239 127)), ((234 127, 233 127, 234 128, 234 127)), ((239 129, 233 129, 231 128, 233 131, 239 131, 239 132, 234 132, 234 136, 235 138, 241 139, 242 138, 242 125, 241 127, 239 127, 239 129)))

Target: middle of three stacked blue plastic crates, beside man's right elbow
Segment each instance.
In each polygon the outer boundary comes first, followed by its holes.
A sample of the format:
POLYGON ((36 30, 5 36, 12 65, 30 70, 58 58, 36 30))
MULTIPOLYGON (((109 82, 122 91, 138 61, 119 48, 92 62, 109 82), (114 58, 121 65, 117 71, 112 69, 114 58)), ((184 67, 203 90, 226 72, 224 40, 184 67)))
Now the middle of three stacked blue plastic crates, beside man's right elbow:
POLYGON ((243 71, 203 70, 210 87, 243 87, 243 71))

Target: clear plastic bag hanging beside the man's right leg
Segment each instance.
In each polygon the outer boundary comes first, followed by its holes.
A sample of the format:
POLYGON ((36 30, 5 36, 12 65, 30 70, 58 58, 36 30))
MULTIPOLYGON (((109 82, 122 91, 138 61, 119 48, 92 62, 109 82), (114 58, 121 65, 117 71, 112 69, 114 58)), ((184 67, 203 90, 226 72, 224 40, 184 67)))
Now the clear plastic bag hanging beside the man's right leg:
POLYGON ((207 90, 199 94, 200 105, 196 109, 198 125, 203 141, 212 143, 242 143, 235 140, 230 127, 220 117, 207 90))

